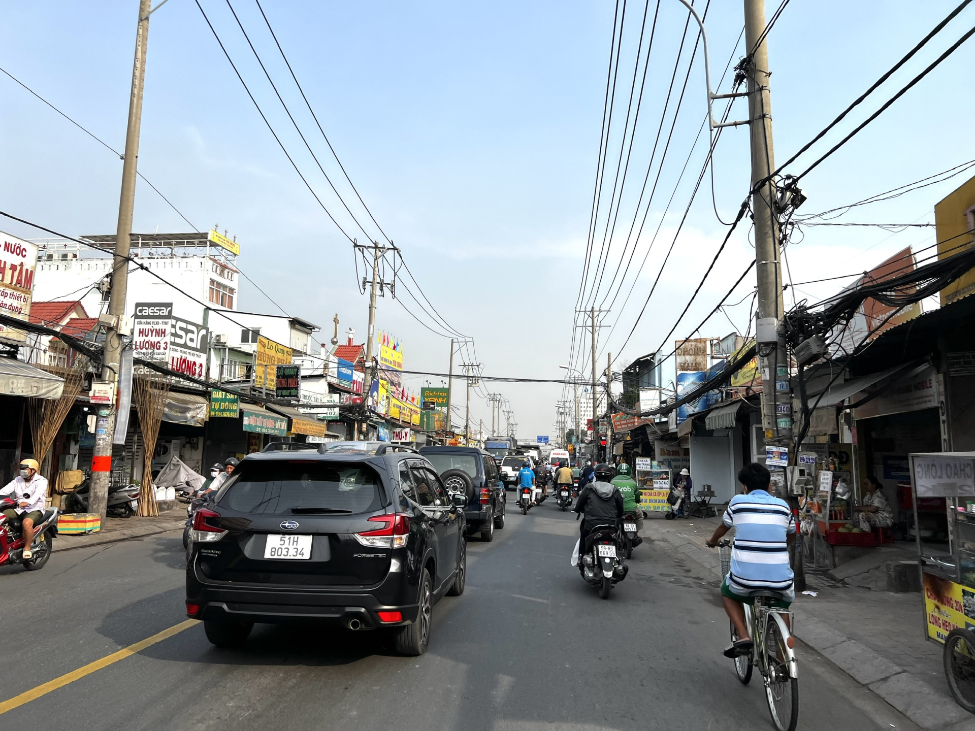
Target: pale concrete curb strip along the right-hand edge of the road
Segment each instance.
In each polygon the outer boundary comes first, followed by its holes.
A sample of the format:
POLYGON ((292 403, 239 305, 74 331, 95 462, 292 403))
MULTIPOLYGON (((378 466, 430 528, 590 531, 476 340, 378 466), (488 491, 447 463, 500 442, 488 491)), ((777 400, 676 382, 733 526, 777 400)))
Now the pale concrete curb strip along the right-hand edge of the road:
MULTIPOLYGON (((673 546, 683 556, 693 558, 714 571, 716 576, 721 576, 721 559, 689 536, 660 528, 652 529, 652 533, 650 537, 654 540, 673 546)), ((703 542, 703 537, 701 540, 703 542)), ((797 620, 796 637, 803 644, 878 695, 897 712, 927 731, 975 731, 975 718, 961 709, 954 698, 891 663, 862 642, 815 619, 811 607, 806 609, 793 604, 792 609, 797 620)))

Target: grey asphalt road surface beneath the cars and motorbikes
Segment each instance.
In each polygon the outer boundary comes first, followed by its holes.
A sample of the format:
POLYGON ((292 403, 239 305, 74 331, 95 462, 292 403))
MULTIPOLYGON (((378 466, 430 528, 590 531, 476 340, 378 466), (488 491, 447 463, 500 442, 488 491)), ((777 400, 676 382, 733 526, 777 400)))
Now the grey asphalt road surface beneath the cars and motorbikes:
MULTIPOLYGON (((743 687, 721 656, 716 580, 647 541, 600 599, 569 565, 573 517, 549 500, 472 541, 467 590, 435 607, 421 658, 377 633, 274 626, 220 650, 194 625, 0 713, 0 727, 772 728, 761 678, 743 687)), ((177 532, 57 553, 37 572, 0 568, 0 709, 183 622, 183 571, 177 532)), ((800 698, 802 729, 917 728, 802 647, 800 698)))

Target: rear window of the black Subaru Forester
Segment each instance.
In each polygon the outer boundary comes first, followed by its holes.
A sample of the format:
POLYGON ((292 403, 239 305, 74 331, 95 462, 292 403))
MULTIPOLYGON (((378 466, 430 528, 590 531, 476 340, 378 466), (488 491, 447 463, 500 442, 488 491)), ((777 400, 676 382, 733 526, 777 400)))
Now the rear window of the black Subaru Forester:
POLYGON ((274 460, 238 469, 219 504, 240 513, 354 515, 381 507, 378 478, 365 465, 274 460))

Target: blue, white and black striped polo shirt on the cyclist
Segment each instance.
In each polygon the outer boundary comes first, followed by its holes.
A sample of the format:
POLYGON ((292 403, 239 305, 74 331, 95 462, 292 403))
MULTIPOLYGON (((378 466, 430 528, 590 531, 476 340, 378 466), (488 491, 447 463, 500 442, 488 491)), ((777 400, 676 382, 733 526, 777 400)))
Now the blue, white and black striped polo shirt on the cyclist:
POLYGON ((728 589, 742 596, 760 591, 792 595, 786 535, 796 532, 796 520, 786 501, 752 490, 731 498, 723 519, 734 528, 728 589))

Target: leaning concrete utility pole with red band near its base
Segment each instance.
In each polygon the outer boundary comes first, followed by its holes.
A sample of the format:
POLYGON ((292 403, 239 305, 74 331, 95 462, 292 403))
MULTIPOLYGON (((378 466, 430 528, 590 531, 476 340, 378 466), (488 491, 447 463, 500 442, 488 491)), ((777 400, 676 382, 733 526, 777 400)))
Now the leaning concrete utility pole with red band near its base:
MULTIPOLYGON (((145 55, 149 43, 150 0, 139 0, 136 30, 136 58, 132 68, 132 91, 129 96, 129 124, 125 137, 125 161, 122 164, 122 191, 119 195, 118 226, 115 229, 115 255, 112 260, 112 284, 108 299, 108 314, 115 322, 105 333, 105 348, 101 356, 101 379, 118 383, 119 363, 122 360, 120 328, 126 312, 126 290, 129 286, 129 245, 132 237, 132 217, 136 207, 136 173, 138 164, 138 135, 142 122, 142 89, 145 82, 145 55)), ((113 389, 113 394, 115 389, 113 389)), ((108 504, 108 485, 111 481, 112 443, 115 439, 114 404, 98 407, 95 430, 95 449, 92 456, 92 488, 88 510, 102 519, 108 504)))

